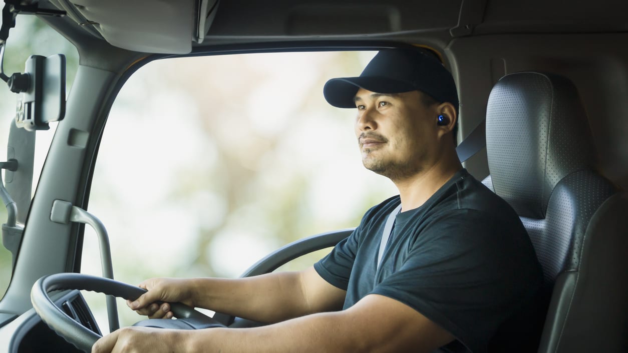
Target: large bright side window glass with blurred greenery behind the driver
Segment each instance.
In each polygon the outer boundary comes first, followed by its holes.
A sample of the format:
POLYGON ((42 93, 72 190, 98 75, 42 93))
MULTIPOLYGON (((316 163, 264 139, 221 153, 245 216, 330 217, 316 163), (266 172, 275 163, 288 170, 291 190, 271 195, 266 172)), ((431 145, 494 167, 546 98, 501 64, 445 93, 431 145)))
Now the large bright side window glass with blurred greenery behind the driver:
MULTIPOLYGON (((288 242, 355 227, 395 195, 362 166, 355 111, 322 94, 373 55, 176 58, 134 73, 109 114, 89 203, 109 231, 117 279, 237 277, 288 242)), ((86 229, 82 272, 100 275, 98 254, 86 229)), ((90 307, 106 331, 104 296, 90 307)), ((123 325, 139 319, 119 307, 123 325)))

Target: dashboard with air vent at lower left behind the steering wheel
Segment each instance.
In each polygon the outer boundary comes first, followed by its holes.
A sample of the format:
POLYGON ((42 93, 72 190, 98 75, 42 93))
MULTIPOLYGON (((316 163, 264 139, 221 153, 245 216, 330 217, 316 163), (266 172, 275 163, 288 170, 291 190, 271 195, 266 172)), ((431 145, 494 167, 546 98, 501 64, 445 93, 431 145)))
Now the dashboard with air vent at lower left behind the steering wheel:
MULTIPOLYGON (((102 335, 80 291, 63 291, 52 298, 57 307, 69 317, 96 334, 102 335)), ((35 309, 31 308, 0 327, 0 353, 3 352, 82 352, 82 350, 51 330, 41 321, 35 309)))

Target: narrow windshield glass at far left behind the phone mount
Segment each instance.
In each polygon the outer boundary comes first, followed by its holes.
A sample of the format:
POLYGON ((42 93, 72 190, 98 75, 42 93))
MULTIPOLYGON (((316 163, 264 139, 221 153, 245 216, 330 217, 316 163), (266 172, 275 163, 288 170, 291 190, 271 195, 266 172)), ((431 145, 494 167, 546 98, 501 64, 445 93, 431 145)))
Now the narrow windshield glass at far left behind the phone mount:
MULTIPOLYGON (((24 72, 24 64, 30 55, 48 57, 57 53, 66 59, 66 94, 70 92, 78 67, 76 48, 63 36, 52 30, 36 16, 19 15, 16 26, 9 31, 7 47, 4 53, 4 73, 11 76, 14 72, 24 72)), ((0 80, 0 160, 7 158, 9 126, 13 122, 18 95, 11 92, 0 80)), ((47 131, 37 131, 35 143, 35 164, 33 166, 33 188, 36 190, 41 168, 48 153, 48 147, 57 128, 52 122, 47 131)), ((4 180, 4 172, 3 172, 4 180)), ((7 219, 4 204, 0 205, 0 224, 7 219)), ((4 295, 11 279, 11 253, 0 246, 0 297, 4 295)))

